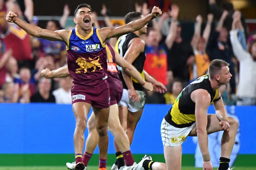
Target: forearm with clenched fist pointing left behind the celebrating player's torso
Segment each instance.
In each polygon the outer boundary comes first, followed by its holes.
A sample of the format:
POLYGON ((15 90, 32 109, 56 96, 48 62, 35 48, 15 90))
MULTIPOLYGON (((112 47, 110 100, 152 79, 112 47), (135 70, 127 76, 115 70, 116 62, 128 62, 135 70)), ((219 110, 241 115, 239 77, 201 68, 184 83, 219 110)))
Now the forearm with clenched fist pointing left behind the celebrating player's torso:
POLYGON ((62 66, 56 70, 50 70, 48 68, 43 69, 41 71, 41 75, 44 76, 45 78, 62 78, 62 77, 68 77, 69 71, 67 65, 62 66))

